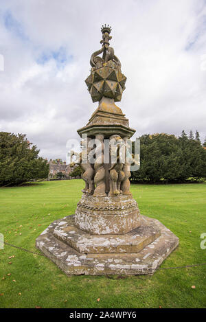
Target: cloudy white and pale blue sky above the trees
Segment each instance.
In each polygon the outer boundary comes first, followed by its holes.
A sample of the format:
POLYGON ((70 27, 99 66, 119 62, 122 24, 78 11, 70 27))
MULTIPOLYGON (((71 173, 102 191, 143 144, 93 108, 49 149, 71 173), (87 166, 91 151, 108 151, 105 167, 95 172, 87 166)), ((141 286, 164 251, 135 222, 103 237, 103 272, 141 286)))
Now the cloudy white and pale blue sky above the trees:
POLYGON ((138 137, 206 136, 206 1, 1 0, 0 131, 25 133, 47 159, 66 159, 98 103, 84 80, 112 27, 126 90, 117 106, 138 137))

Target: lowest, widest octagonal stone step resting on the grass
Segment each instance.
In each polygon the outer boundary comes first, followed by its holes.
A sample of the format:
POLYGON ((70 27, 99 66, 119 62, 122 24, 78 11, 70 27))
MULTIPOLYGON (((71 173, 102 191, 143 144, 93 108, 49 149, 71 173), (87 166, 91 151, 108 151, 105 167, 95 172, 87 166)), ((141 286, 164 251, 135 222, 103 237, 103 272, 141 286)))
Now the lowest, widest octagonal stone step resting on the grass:
POLYGON ((143 225, 157 225, 161 235, 138 253, 82 254, 54 236, 54 229, 67 217, 53 222, 36 239, 36 247, 67 275, 146 275, 153 274, 159 265, 179 244, 172 231, 152 218, 141 216, 143 225))

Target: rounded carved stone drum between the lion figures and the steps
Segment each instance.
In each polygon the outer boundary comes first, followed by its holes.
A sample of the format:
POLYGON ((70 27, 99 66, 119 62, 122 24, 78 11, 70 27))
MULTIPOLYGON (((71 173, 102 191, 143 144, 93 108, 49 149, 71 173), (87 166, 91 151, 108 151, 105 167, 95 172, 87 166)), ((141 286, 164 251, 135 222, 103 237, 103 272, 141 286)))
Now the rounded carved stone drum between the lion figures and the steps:
POLYGON ((76 208, 75 225, 93 235, 122 235, 139 227, 139 208, 132 196, 83 195, 76 208))

